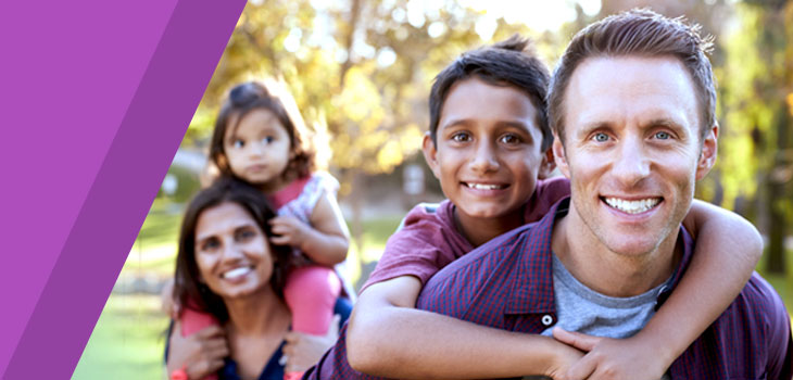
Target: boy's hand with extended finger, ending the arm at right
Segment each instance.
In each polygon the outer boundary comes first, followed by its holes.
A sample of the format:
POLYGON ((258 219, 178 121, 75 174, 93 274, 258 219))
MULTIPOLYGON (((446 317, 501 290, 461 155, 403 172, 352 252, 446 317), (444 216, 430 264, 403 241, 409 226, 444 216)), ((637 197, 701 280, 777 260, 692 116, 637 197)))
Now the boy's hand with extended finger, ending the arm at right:
POLYGON ((634 339, 611 339, 553 329, 559 342, 587 352, 566 373, 567 379, 660 379, 666 366, 653 345, 634 339))

